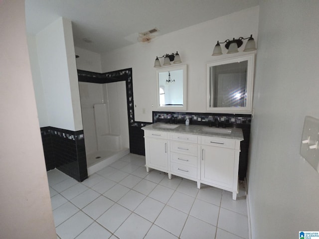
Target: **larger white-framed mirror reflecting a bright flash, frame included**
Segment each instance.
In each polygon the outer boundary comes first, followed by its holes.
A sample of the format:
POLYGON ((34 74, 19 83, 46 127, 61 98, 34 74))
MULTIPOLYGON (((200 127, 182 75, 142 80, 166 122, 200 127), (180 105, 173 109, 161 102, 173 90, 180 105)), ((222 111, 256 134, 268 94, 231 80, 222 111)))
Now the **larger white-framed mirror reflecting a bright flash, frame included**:
POLYGON ((206 111, 252 113, 255 54, 206 64, 206 111))

